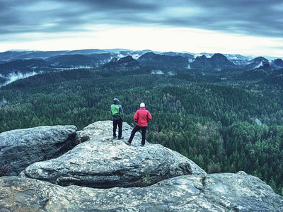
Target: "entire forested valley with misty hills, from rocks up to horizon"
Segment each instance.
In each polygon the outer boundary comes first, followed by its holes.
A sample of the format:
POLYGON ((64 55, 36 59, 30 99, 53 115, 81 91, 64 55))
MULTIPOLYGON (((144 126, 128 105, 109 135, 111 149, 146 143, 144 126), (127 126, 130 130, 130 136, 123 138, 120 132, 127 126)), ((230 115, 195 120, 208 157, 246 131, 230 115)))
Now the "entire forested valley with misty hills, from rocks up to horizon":
POLYGON ((0 61, 0 132, 83 129, 111 119, 113 98, 134 126, 145 102, 147 141, 209 173, 243 170, 283 195, 282 59, 88 49, 4 52, 0 61))

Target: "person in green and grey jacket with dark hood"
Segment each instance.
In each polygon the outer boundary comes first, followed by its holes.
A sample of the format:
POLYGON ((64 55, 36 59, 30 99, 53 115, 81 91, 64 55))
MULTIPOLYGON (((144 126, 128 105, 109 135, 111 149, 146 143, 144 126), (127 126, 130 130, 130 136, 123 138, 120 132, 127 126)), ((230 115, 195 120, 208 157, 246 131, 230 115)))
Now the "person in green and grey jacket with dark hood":
POLYGON ((119 105, 119 100, 117 98, 113 99, 113 104, 110 107, 110 113, 112 115, 113 119, 113 139, 116 139, 116 129, 118 125, 118 139, 124 139, 122 137, 122 123, 123 123, 123 117, 124 112, 122 109, 122 106, 119 105))

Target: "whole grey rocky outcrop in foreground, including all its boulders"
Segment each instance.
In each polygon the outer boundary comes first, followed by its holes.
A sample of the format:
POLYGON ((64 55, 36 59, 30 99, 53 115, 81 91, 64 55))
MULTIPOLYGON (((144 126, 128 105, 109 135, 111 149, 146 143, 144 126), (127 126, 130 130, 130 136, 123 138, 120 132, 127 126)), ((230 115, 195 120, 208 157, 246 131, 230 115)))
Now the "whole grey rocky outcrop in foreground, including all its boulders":
MULTIPOLYGON (((50 151, 46 146, 56 149, 58 143, 66 140, 62 138, 69 138, 67 134, 74 137, 74 126, 67 129, 71 130, 48 126, 2 133, 1 156, 11 156, 10 151, 3 150, 11 150, 13 146, 28 146, 18 148, 23 153, 18 158, 11 157, 10 163, 33 158, 30 152, 36 145, 28 143, 41 143, 38 149, 45 150, 41 153, 45 155, 50 151), (34 135, 28 139, 31 134, 34 135), (54 142, 57 136, 61 139, 54 142), (30 155, 22 157, 25 153, 30 155)), ((123 123, 125 140, 131 131, 132 126, 123 123)), ((112 139, 112 121, 90 124, 76 131, 79 144, 67 153, 54 155, 52 159, 37 157, 38 162, 26 163, 28 167, 20 176, 0 177, 0 208, 2 211, 283 211, 283 197, 258 177, 245 172, 207 175, 175 151, 148 142, 141 147, 140 142, 139 133, 132 146, 112 139)), ((13 155, 17 155, 16 151, 13 155)))

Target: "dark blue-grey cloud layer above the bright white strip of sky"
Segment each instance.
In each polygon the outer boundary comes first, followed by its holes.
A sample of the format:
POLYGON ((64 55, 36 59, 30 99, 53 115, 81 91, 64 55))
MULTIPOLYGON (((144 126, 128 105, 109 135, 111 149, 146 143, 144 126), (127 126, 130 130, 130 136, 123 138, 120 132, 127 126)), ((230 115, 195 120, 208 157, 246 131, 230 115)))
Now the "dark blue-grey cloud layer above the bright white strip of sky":
POLYGON ((0 2, 0 35, 61 33, 94 24, 200 28, 267 37, 283 35, 282 0, 61 0, 0 2))

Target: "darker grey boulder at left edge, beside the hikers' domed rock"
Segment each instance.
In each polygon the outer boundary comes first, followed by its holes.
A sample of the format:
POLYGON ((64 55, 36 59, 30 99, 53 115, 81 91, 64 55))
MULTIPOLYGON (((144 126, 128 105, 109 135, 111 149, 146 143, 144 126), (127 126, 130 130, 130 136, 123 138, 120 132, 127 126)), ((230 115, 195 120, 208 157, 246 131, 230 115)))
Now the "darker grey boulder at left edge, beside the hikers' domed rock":
MULTIPOLYGON (((38 126, 0 134, 0 167, 18 175, 37 161, 57 158, 75 146, 76 126, 38 126)), ((1 176, 1 172, 0 172, 1 176)))

